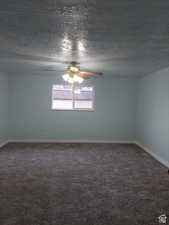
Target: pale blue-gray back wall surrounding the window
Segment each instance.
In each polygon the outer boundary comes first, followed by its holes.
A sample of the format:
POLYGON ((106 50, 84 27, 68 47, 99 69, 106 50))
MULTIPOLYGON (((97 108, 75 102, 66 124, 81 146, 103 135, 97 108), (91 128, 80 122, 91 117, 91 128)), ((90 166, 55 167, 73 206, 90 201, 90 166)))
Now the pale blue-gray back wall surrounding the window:
POLYGON ((134 140, 137 79, 92 79, 95 111, 52 111, 54 75, 12 74, 9 79, 10 139, 134 140))

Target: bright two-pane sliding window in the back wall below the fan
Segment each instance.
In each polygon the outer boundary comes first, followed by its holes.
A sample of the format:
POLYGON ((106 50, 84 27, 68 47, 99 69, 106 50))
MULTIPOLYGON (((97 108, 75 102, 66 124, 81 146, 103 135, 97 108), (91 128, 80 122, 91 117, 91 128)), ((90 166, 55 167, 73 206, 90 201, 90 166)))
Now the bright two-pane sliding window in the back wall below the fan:
POLYGON ((53 85, 52 109, 56 110, 93 110, 93 87, 72 87, 53 85))

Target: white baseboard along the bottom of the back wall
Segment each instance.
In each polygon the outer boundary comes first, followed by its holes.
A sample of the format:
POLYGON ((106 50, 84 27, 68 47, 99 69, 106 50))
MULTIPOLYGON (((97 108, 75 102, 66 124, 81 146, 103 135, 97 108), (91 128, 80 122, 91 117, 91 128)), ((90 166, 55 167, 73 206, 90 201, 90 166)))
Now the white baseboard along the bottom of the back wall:
POLYGON ((112 144, 135 144, 135 141, 127 140, 57 140, 57 139, 10 139, 9 143, 112 143, 112 144))

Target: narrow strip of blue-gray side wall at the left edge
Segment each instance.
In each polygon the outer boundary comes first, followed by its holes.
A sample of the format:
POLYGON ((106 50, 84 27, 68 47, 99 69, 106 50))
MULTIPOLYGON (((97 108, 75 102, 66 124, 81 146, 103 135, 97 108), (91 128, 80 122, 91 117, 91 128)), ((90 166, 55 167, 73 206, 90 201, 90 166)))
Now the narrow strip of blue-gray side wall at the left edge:
POLYGON ((8 138, 8 75, 0 72, 0 142, 8 138))

